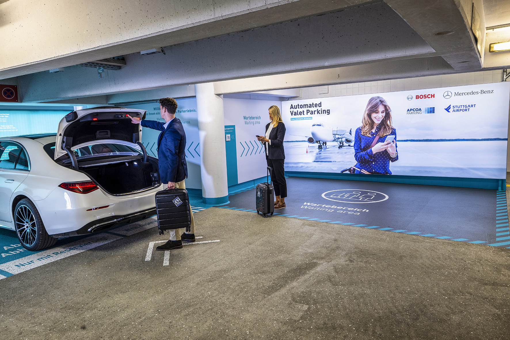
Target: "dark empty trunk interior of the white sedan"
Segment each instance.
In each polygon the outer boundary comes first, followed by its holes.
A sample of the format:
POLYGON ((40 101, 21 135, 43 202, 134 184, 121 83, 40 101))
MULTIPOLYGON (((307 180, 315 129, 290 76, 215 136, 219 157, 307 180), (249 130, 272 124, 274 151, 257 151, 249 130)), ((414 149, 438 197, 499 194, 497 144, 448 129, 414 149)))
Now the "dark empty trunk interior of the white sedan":
POLYGON ((159 180, 152 180, 151 173, 158 173, 158 161, 151 158, 147 163, 140 158, 113 164, 80 167, 80 170, 86 172, 104 190, 113 195, 129 194, 160 183, 159 180))

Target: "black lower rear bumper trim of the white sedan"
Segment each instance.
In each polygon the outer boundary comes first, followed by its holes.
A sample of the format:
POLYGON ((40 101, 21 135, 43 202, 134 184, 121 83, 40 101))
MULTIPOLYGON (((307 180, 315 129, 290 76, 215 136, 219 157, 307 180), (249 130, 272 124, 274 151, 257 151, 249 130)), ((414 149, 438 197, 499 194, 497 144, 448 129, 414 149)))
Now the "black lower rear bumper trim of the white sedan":
POLYGON ((101 231, 107 231, 112 228, 117 228, 126 224, 144 220, 148 217, 156 215, 156 207, 150 208, 145 211, 136 212, 127 215, 109 216, 99 220, 92 221, 85 224, 83 227, 76 231, 69 231, 60 234, 50 235, 53 238, 67 238, 71 236, 91 234, 101 231))

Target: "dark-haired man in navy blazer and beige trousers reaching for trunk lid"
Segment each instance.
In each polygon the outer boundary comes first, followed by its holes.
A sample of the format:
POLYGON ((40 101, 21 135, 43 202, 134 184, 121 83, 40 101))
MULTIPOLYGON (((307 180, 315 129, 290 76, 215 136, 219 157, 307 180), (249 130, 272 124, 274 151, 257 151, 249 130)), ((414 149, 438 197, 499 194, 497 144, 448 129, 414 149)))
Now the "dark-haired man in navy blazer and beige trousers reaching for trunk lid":
MULTIPOLYGON (((160 179, 168 189, 186 189, 184 179, 188 177, 188 166, 186 165, 186 134, 183 124, 179 118, 175 118, 177 102, 173 98, 161 98, 160 113, 165 123, 155 120, 140 120, 131 118, 134 124, 142 124, 143 127, 160 130, 158 137, 158 163, 160 179)), ((183 247, 182 240, 195 242, 195 222, 191 211, 191 233, 180 233, 180 229, 169 230, 170 240, 156 250, 180 249, 183 247)))

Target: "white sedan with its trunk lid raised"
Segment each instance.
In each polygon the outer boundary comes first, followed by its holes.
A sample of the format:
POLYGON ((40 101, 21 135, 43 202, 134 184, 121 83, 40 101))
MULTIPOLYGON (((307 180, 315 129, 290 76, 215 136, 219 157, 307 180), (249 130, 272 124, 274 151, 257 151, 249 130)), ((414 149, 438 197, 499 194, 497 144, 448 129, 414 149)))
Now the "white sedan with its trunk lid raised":
POLYGON ((35 251, 156 215, 158 159, 126 114, 145 111, 73 111, 56 135, 0 137, 0 227, 35 251))

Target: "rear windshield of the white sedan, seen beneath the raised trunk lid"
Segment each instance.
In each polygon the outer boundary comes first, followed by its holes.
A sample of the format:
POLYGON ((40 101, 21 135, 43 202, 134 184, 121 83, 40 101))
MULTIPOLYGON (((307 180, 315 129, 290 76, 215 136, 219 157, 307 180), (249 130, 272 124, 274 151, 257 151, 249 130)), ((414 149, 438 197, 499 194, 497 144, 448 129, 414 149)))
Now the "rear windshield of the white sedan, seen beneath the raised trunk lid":
MULTIPOLYGON (((55 157, 55 142, 44 145, 43 149, 52 159, 55 157)), ((72 152, 74 152, 78 161, 101 156, 138 156, 143 154, 141 150, 134 147, 113 143, 87 145, 81 148, 72 149, 72 152)), ((65 162, 67 160, 69 160, 69 155, 66 153, 60 156, 56 161, 65 162)))

